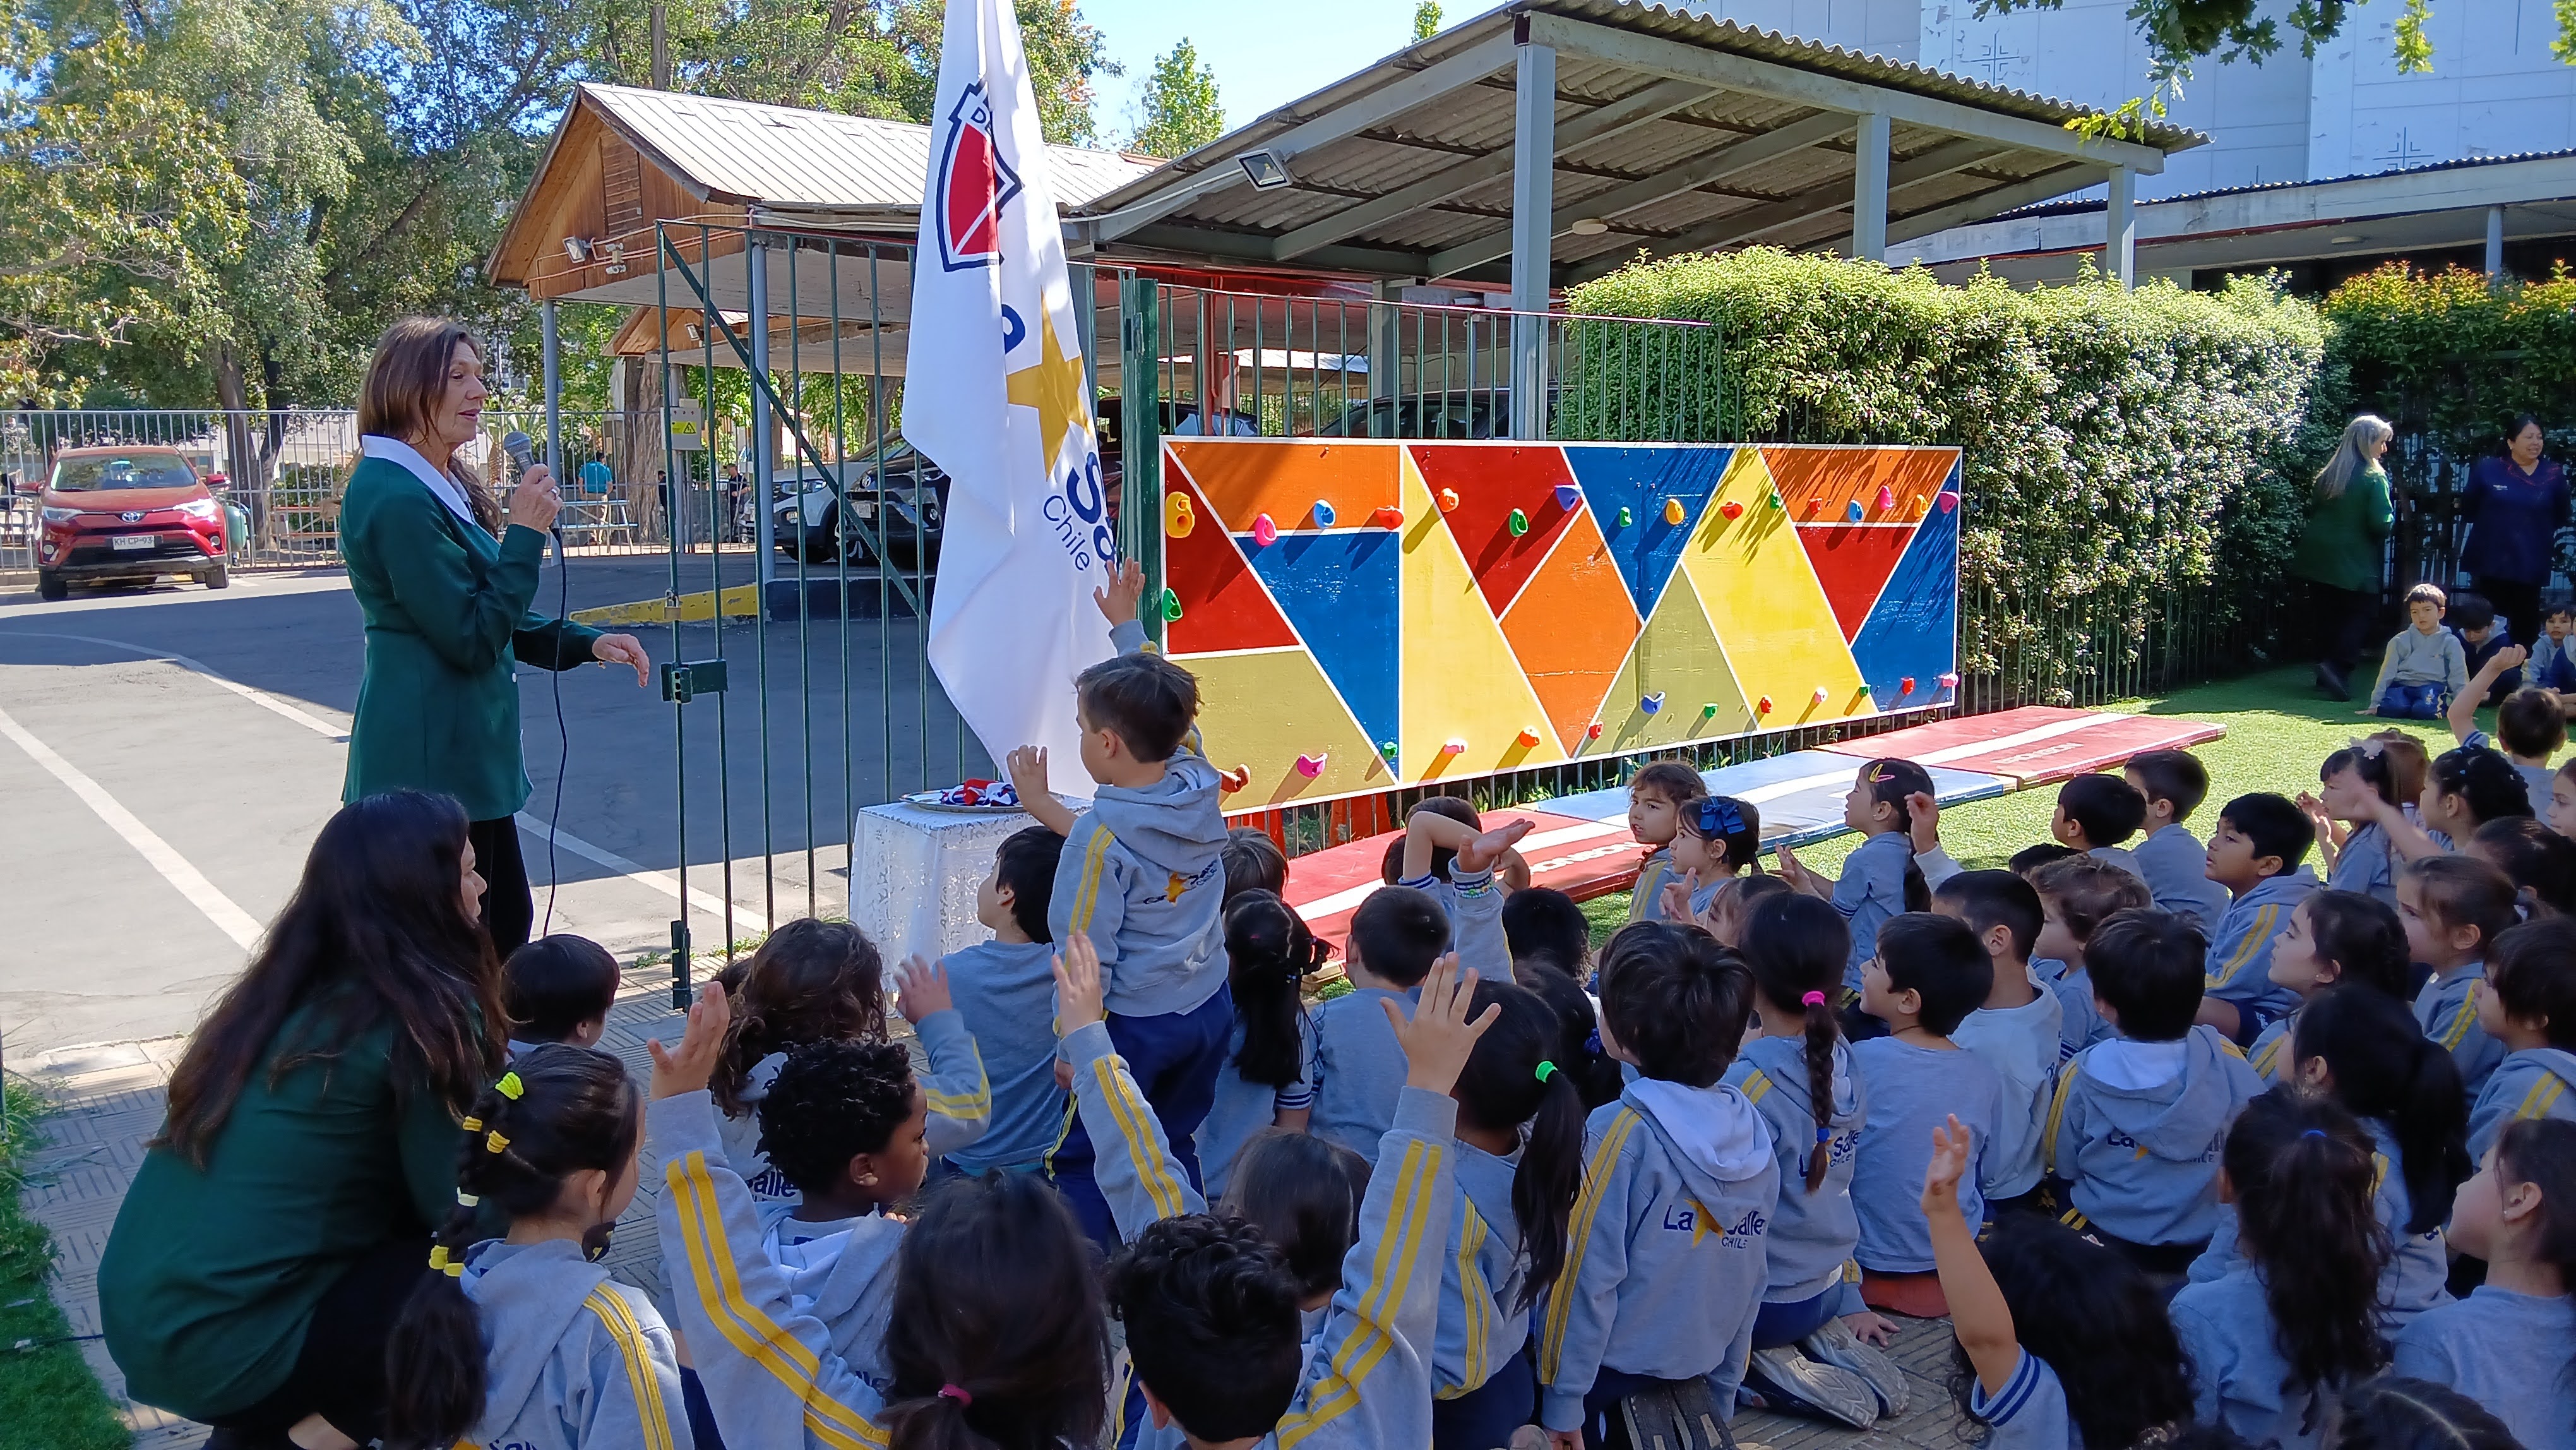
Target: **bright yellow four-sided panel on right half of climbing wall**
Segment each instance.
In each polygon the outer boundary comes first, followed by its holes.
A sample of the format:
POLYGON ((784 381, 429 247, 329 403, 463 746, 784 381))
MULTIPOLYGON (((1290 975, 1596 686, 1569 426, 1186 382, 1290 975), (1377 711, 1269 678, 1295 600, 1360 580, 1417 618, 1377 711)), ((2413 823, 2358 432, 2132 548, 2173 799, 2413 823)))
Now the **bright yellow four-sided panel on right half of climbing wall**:
MULTIPOLYGON (((1749 701, 1770 695, 1772 711, 1752 729, 1795 729, 1875 716, 1852 646, 1834 623, 1834 605, 1798 543, 1788 513, 1767 507, 1770 469, 1759 448, 1736 448, 1718 497, 1682 549, 1682 579, 1700 595, 1708 623, 1749 701), (1726 505, 1736 502, 1736 518, 1726 505), (1816 701, 1824 688, 1824 701, 1816 701)), ((1680 579, 1677 579, 1680 582, 1680 579)), ((1669 590, 1667 590, 1669 595, 1669 590)))

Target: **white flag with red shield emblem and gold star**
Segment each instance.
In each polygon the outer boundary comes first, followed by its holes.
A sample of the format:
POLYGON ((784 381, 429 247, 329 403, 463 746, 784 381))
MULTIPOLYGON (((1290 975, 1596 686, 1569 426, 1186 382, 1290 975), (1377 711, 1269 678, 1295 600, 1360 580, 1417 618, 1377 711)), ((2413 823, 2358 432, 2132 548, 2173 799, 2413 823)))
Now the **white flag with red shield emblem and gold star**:
POLYGON ((1046 167, 1018 15, 951 0, 904 353, 904 438, 948 474, 930 667, 997 767, 1043 744, 1087 793, 1074 675, 1110 654, 1115 531, 1046 167))

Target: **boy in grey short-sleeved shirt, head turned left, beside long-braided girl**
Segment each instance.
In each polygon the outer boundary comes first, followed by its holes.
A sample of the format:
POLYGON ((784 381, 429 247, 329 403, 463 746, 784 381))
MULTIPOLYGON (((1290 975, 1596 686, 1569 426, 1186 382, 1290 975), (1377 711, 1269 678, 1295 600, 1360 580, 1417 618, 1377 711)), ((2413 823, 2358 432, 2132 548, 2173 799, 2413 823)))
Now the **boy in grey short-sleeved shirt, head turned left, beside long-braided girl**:
MULTIPOLYGON (((2107 871, 2107 868, 2105 868, 2107 871)), ((1950 1038, 1994 992, 1994 958, 1965 922, 1906 912, 1878 930, 1862 976, 1860 1010, 1888 1025, 1886 1038, 1852 1043, 1852 1071, 1870 1105, 1852 1159, 1860 1213, 1860 1298, 1870 1308, 1932 1316, 1945 1308, 1932 1280, 1932 1239, 1917 1200, 1932 1156, 1932 1125, 1955 1115, 1976 1133, 1976 1164, 1960 1205, 1984 1216, 2004 1162, 1986 1144, 2007 1118, 2004 1082, 1950 1038)))

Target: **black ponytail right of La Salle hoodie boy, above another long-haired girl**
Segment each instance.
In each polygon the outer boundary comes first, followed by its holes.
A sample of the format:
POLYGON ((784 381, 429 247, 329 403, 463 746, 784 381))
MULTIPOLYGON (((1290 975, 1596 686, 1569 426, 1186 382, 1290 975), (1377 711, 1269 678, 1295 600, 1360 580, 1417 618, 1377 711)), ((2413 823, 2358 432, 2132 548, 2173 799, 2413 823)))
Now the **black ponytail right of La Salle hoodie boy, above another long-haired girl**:
POLYGON ((2468 1159, 2468 1097, 2450 1053, 2424 1035, 2414 1012, 2372 986, 2316 994, 2298 1015, 2290 1061, 2324 1059, 2334 1097, 2354 1118, 2388 1123, 2406 1169, 2406 1231, 2429 1234, 2450 1218, 2468 1159))

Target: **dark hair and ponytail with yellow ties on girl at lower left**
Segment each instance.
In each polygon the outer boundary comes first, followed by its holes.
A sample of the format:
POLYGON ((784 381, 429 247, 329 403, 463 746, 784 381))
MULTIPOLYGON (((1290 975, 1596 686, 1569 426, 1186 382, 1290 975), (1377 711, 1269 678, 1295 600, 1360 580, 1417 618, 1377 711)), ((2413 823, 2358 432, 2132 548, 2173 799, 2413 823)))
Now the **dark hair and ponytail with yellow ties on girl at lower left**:
MULTIPOLYGON (((582 1169, 611 1180, 634 1162, 644 1100, 618 1059, 546 1043, 474 1097, 456 1146, 456 1208, 430 1241, 430 1277, 404 1301, 384 1347, 386 1450, 446 1450, 484 1414, 484 1334, 466 1298, 466 1252, 484 1203, 510 1218, 554 1208, 582 1169)), ((598 1257, 608 1223, 582 1236, 598 1257)))

